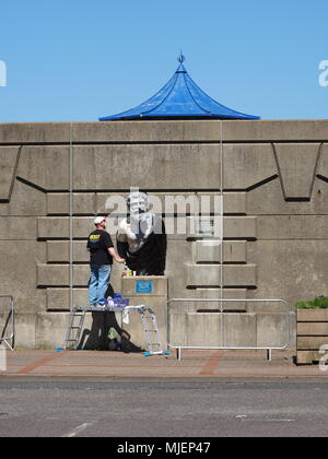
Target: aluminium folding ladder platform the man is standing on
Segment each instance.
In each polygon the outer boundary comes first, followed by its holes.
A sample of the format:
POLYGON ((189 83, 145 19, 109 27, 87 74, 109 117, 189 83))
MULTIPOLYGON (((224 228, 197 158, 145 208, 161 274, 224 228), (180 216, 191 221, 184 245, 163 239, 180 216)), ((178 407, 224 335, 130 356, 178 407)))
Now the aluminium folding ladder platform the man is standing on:
MULTIPOLYGON (((75 306, 70 311, 70 319, 69 319, 69 326, 67 329, 66 340, 65 340, 65 346, 63 349, 79 349, 79 341, 81 338, 81 332, 85 319, 85 313, 89 311, 96 311, 96 313, 107 313, 107 311, 122 311, 122 314, 128 314, 130 311, 138 311, 141 317, 143 331, 145 334, 147 345, 148 345, 148 352, 144 352, 144 355, 161 355, 164 354, 162 342, 160 339, 159 328, 157 328, 157 321, 156 321, 156 315, 154 310, 144 305, 139 306, 122 306, 122 307, 112 307, 112 306, 105 306, 105 307, 96 307, 96 306, 75 306)), ((166 354, 168 352, 166 351, 166 354)))

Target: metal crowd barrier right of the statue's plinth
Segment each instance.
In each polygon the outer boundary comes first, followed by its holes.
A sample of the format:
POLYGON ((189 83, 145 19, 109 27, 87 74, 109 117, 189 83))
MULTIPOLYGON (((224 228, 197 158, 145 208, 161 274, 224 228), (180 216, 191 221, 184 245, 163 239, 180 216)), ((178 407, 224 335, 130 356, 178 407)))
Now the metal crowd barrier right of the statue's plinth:
MULTIPOLYGON (((218 314, 222 315, 222 320, 221 320, 221 344, 220 346, 190 346, 190 345, 175 345, 175 344, 171 344, 169 343, 169 334, 168 334, 168 339, 167 339, 167 346, 172 348, 172 349, 176 349, 177 350, 177 357, 180 361, 181 360, 181 350, 206 350, 206 351, 211 351, 211 350, 222 350, 222 351, 229 351, 229 350, 233 350, 233 351, 267 351, 267 358, 269 361, 271 361, 272 358, 272 351, 282 351, 284 349, 286 349, 290 344, 290 315, 293 314, 290 311, 290 307, 289 304, 284 301, 284 299, 231 299, 231 298, 172 298, 167 302, 168 308, 167 308, 167 314, 168 314, 168 333, 169 333, 169 317, 171 317, 171 311, 169 311, 169 305, 171 303, 221 303, 221 309, 218 314), (263 346, 263 348, 258 348, 258 346, 254 346, 254 348, 249 348, 249 346, 224 346, 223 343, 223 337, 224 337, 224 309, 222 307, 223 303, 281 303, 284 305, 285 307, 285 313, 283 313, 286 316, 286 341, 285 344, 283 344, 282 346, 263 346)), ((243 313, 241 313, 243 314, 243 313)))

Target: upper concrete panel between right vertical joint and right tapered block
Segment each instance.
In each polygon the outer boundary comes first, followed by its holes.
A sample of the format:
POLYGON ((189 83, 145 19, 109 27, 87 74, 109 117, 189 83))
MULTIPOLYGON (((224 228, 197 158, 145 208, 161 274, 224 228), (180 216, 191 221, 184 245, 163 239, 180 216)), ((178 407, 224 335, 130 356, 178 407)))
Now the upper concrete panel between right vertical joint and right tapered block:
POLYGON ((225 144, 223 152, 224 189, 244 190, 278 174, 271 144, 225 144))

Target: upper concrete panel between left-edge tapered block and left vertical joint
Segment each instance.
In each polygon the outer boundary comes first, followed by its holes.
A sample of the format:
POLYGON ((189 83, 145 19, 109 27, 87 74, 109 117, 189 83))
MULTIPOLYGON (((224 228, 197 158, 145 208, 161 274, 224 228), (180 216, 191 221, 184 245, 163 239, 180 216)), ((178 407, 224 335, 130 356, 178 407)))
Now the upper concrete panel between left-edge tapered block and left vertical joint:
POLYGON ((17 176, 43 190, 69 190, 69 146, 23 146, 17 176))

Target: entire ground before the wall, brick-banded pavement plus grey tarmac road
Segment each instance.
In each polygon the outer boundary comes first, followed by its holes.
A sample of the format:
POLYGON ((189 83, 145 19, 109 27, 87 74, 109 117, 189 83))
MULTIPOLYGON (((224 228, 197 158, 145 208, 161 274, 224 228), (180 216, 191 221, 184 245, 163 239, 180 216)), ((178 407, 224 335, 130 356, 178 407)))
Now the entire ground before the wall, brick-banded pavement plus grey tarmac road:
POLYGON ((5 351, 0 437, 110 437, 107 452, 156 457, 221 437, 326 437, 328 372, 294 354, 5 351))

